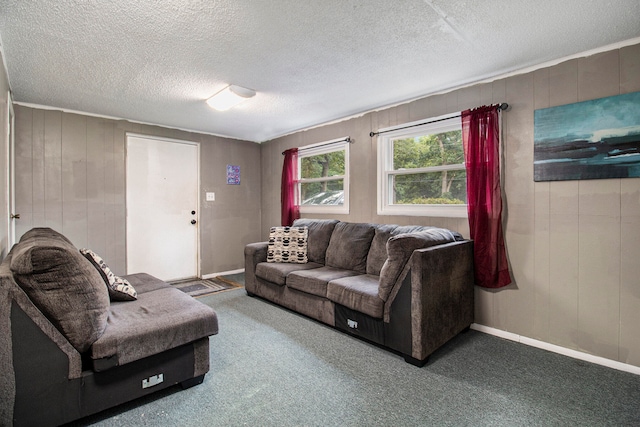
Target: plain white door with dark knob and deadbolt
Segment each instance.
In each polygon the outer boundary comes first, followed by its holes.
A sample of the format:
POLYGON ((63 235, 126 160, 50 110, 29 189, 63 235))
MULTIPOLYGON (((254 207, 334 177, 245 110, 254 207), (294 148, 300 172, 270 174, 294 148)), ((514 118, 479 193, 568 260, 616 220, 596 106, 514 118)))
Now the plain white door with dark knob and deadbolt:
POLYGON ((127 273, 198 276, 198 145, 127 135, 127 273))

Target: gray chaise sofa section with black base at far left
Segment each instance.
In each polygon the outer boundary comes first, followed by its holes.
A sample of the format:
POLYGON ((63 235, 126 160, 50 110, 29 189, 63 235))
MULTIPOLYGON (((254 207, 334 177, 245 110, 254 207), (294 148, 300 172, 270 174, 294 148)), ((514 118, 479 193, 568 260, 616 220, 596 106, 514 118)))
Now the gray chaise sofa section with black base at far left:
POLYGON ((101 270, 49 228, 0 264, 0 425, 64 424, 209 371, 215 312, 148 274, 110 299, 101 270))

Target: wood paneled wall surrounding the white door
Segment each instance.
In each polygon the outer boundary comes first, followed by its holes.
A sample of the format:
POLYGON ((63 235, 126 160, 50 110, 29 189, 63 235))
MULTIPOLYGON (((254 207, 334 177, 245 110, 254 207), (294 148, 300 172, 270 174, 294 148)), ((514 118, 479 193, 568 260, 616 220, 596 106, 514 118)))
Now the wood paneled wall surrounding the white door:
POLYGON ((260 236, 260 146, 210 135, 16 106, 16 238, 32 227, 65 234, 126 271, 126 133, 200 144, 200 259, 203 275, 243 268, 260 236), (226 185, 226 165, 241 185, 226 185), (204 193, 216 193, 206 202, 204 193))

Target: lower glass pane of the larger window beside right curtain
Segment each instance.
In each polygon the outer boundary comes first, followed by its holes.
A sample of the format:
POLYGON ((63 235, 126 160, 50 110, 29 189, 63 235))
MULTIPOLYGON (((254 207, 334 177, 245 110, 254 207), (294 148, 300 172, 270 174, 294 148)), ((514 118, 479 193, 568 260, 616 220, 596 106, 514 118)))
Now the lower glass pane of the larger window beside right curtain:
POLYGON ((392 204, 449 205, 467 203, 464 170, 391 175, 392 204))

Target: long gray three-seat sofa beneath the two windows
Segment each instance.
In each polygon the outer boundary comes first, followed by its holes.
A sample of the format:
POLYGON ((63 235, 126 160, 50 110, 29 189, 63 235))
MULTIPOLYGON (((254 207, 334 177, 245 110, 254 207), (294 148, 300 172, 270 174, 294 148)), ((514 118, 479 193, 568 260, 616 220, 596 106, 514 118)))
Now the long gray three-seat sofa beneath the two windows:
POLYGON ((245 247, 245 287, 259 296, 423 366, 468 329, 473 242, 436 227, 298 219, 307 262, 267 262, 268 242, 245 247))

